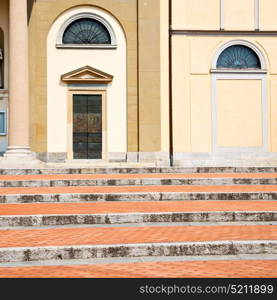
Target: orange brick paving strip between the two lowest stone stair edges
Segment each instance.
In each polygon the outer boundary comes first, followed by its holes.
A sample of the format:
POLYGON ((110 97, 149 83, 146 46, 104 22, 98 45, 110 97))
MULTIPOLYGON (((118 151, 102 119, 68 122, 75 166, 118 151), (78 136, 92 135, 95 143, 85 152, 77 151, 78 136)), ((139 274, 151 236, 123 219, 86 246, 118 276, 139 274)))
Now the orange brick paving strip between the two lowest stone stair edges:
POLYGON ((0 230, 0 247, 277 240, 277 226, 153 226, 0 230))

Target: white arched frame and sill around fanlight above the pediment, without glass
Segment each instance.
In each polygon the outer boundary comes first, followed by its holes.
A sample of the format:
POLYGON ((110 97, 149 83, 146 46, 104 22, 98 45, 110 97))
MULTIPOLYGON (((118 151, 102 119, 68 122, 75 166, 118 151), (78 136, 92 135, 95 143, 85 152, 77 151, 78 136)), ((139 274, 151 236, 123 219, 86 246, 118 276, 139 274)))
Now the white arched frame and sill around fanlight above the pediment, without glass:
POLYGON ((79 13, 74 16, 71 16, 69 19, 67 19, 63 25, 61 26, 57 41, 56 41, 56 48, 62 48, 62 49, 116 49, 117 44, 116 44, 116 36, 115 32, 110 25, 109 22, 107 22, 103 17, 94 14, 94 13, 79 13), (111 43, 110 44, 91 44, 91 45, 86 45, 86 44, 64 44, 63 43, 63 35, 65 33, 65 30, 67 27, 73 23, 76 20, 83 19, 83 18, 88 18, 88 19, 93 19, 98 22, 100 22, 105 28, 108 30, 110 37, 111 37, 111 43))

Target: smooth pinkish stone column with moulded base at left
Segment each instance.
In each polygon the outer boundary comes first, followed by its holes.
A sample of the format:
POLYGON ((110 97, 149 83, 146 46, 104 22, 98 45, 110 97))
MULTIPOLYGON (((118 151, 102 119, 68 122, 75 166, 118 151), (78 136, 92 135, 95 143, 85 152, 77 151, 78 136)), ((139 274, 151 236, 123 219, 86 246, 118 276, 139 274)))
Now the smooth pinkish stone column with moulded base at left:
POLYGON ((8 160, 33 160, 29 147, 27 0, 10 0, 8 160))

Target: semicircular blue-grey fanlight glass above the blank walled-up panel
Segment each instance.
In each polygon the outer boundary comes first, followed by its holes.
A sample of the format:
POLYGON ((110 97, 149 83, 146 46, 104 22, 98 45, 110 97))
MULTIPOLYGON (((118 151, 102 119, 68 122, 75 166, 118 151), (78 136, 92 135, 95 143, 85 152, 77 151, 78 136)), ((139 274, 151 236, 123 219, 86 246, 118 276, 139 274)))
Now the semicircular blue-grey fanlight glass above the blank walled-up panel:
POLYGON ((261 69, 261 62, 252 49, 234 45, 220 54, 216 67, 219 69, 261 69))

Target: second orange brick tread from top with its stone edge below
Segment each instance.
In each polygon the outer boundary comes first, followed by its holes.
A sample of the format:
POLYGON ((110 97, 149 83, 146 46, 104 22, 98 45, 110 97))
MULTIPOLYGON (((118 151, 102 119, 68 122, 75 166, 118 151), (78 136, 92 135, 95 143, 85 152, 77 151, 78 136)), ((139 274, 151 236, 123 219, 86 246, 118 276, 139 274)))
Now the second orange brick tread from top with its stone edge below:
POLYGON ((0 203, 277 200, 276 185, 0 188, 0 203))

